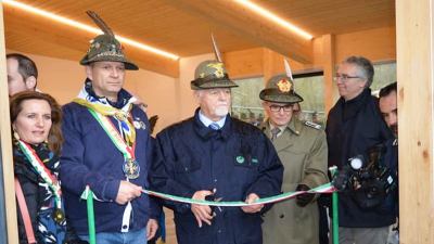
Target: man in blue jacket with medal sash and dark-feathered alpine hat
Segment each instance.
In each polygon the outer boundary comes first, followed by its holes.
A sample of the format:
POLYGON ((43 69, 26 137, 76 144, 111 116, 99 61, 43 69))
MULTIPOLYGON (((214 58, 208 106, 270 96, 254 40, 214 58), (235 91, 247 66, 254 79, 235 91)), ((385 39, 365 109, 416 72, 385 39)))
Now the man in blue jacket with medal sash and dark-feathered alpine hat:
POLYGON ((133 97, 123 89, 128 61, 112 30, 93 12, 104 31, 80 61, 87 79, 78 97, 63 107, 61 180, 66 215, 80 239, 88 241, 87 185, 94 193, 98 244, 145 244, 157 229, 159 209, 142 188, 149 188, 152 160, 149 121, 133 97))

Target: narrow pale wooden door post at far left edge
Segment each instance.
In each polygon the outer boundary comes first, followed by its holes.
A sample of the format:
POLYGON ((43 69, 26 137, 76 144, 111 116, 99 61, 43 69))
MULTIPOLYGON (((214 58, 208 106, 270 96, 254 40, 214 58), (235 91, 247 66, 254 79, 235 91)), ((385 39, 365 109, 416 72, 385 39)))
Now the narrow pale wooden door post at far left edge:
POLYGON ((8 243, 18 243, 2 4, 0 4, 0 140, 1 160, 3 163, 3 176, 1 178, 4 185, 8 243))

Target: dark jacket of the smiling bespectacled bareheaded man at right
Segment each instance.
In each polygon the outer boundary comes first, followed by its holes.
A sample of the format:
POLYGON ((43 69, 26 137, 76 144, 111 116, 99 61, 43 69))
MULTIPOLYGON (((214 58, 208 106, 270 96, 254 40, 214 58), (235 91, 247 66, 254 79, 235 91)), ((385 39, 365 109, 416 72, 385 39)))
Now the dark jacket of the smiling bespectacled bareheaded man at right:
MULTIPOLYGON (((392 132, 384 123, 378 107, 378 99, 370 89, 353 100, 341 98, 329 113, 327 120, 329 166, 342 169, 348 158, 365 154, 375 144, 391 139, 392 132)), ((375 228, 392 224, 395 219, 385 218, 382 207, 362 209, 352 193, 339 194, 339 221, 341 227, 375 228)))

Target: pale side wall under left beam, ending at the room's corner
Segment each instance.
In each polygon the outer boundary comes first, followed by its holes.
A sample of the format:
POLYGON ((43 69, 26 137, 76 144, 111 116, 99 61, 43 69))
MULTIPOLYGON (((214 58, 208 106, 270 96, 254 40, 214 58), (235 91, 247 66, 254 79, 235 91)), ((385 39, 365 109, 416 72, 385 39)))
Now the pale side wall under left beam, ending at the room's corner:
MULTIPOLYGON (((15 52, 8 50, 8 53, 15 52)), ((38 67, 38 89, 54 97, 59 103, 71 102, 81 89, 86 79, 85 67, 77 62, 24 53, 38 67)), ((139 69, 127 70, 125 88, 143 100, 148 115, 157 114, 156 131, 178 120, 175 102, 177 78, 139 69)))

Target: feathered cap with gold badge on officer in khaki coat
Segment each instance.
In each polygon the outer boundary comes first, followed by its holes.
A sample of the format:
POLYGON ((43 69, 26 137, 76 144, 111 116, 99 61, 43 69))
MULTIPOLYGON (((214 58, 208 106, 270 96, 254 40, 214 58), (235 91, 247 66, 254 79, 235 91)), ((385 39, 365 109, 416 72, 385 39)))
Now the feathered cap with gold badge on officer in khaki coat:
POLYGON ((303 98, 295 93, 291 67, 284 60, 285 75, 277 75, 267 81, 267 86, 260 91, 259 98, 264 101, 276 103, 298 103, 303 98))

